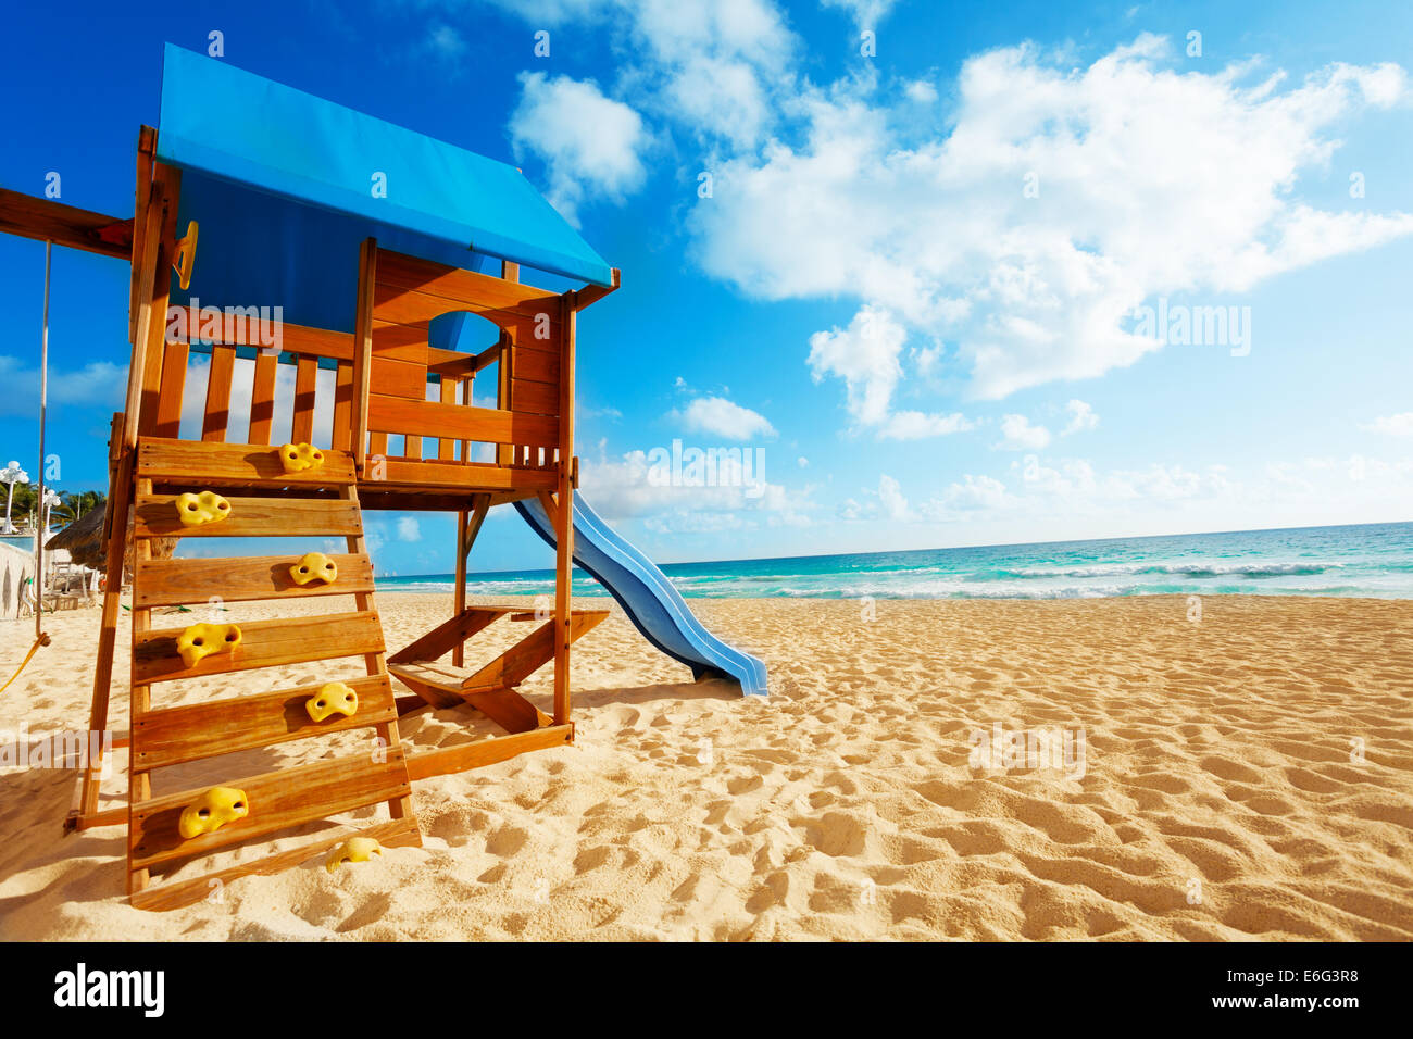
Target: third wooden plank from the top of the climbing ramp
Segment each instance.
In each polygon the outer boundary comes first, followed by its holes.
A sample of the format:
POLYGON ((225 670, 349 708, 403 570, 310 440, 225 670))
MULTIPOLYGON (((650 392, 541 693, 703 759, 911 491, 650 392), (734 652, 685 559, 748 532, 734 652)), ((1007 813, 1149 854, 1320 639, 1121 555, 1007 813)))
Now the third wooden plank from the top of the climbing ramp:
POLYGON ((367 556, 329 556, 339 568, 333 584, 295 584, 290 567, 298 556, 240 556, 220 560, 150 560, 137 567, 134 606, 182 606, 206 602, 219 589, 225 602, 305 599, 373 591, 373 564, 367 556))

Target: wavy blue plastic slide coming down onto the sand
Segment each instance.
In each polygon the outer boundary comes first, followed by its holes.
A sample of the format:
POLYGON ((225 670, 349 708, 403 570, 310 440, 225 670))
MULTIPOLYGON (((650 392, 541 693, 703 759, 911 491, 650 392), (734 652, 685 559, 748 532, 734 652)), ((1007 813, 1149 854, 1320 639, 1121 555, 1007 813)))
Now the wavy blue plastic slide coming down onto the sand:
MULTIPOLYGON (((554 547, 554 527, 534 498, 516 502, 526 523, 554 547)), ((657 649, 692 669, 692 677, 735 679, 740 691, 766 695, 766 666, 714 636, 653 561, 619 537, 574 493, 574 561, 617 599, 629 621, 657 649)))

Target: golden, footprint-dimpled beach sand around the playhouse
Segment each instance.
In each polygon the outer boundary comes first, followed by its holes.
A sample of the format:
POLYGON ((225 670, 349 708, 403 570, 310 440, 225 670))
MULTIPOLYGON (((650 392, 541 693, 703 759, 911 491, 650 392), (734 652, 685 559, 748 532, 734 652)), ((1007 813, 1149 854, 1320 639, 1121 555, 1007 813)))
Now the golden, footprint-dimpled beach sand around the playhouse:
MULTIPOLYGON (((422 848, 332 875, 314 859, 219 902, 131 909, 124 828, 62 835, 72 773, 3 769, 0 937, 1413 937, 1413 601, 1210 597, 1200 622, 1177 597, 880 601, 872 621, 853 601, 692 606, 766 660, 767 700, 692 684, 615 609, 575 647, 575 746, 415 785, 422 848), (989 742, 996 722, 1071 751, 1082 731, 1082 769, 981 768, 974 732, 989 742)), ((396 650, 451 597, 379 608, 396 650)), ((97 611, 47 625, 54 645, 0 697, 0 728, 24 721, 31 739, 88 724, 97 611)), ((496 628, 500 645, 524 632, 496 628)), ((31 636, 0 622, 0 679, 31 636)), ((127 645, 124 618, 120 729, 127 645)), ((550 671, 523 687, 541 707, 550 671)), ((154 703, 175 700, 160 687, 154 703)), ((489 731, 478 720, 424 712, 403 738, 463 741, 489 731)), ((308 742, 252 752, 237 775, 308 742)), ((202 768, 185 782, 211 782, 202 768)))

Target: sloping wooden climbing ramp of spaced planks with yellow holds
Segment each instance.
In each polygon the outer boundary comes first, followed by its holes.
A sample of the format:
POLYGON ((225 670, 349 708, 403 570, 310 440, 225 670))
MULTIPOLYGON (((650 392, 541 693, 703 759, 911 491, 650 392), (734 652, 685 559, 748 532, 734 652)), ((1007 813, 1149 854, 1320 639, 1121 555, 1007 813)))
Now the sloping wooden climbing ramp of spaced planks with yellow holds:
MULTIPOLYGON (((312 471, 287 474, 278 447, 143 437, 134 462, 133 676, 129 745, 129 895, 143 909, 175 909, 206 898, 226 882, 268 874, 342 844, 353 834, 389 847, 420 845, 411 807, 404 748, 397 732, 397 707, 387 674, 383 628, 373 602, 373 567, 363 534, 353 459, 321 450, 312 471), (230 505, 226 519, 184 526, 175 499, 181 492, 215 491, 230 505), (290 567, 304 553, 232 558, 153 558, 151 539, 308 537, 305 551, 324 539, 342 537, 345 554, 329 554, 338 565, 333 584, 300 585, 290 567), (317 539, 317 540, 315 540, 317 539), (353 595, 353 612, 239 623, 242 640, 187 667, 177 652, 184 628, 154 628, 153 611, 196 605, 202 616, 213 597, 219 602, 285 601, 353 595), (285 688, 256 683, 259 691, 196 704, 154 707, 164 683, 288 664, 362 657, 366 676, 332 674, 357 693, 352 717, 311 720, 305 703, 322 681, 285 688), (153 775, 179 765, 253 751, 295 739, 372 728, 367 751, 324 758, 263 775, 219 777, 198 789, 153 796, 153 775), (211 786, 244 792, 249 813, 220 828, 184 840, 178 820, 211 786), (218 850, 270 841, 295 827, 386 803, 386 821, 325 830, 291 850, 244 859, 237 865, 153 885, 154 875, 209 857, 218 850)), ((119 533, 119 536, 122 536, 119 533)), ((218 604, 219 605, 219 604, 218 604)))

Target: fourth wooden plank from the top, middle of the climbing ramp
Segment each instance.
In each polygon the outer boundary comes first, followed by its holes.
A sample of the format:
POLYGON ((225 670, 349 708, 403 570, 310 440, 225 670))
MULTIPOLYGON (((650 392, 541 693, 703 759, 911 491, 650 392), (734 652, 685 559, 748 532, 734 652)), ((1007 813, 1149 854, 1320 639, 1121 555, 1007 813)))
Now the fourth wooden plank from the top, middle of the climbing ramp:
MULTIPOLYGON (((194 623, 198 623, 194 621, 194 623)), ((229 622, 222 622, 229 623, 229 622)), ((187 667, 177 654, 182 628, 161 628, 134 635, 133 684, 229 674, 254 667, 281 667, 308 660, 338 660, 383 652, 383 625, 376 611, 301 616, 288 621, 239 622, 240 645, 213 653, 187 667)))

